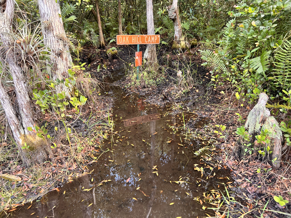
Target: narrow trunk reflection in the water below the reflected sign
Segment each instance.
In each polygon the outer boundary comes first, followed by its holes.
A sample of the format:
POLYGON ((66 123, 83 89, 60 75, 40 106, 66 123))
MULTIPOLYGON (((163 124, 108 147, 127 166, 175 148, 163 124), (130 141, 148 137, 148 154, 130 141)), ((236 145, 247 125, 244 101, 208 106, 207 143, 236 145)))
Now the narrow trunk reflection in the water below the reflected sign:
MULTIPOLYGON (((155 165, 155 138, 156 138, 156 121, 150 121, 150 165, 153 167, 155 165)), ((152 180, 152 194, 150 196, 150 201, 149 201, 149 209, 146 218, 150 216, 150 212, 152 210, 152 203, 154 202, 156 191, 157 191, 157 186, 156 186, 156 180, 155 180, 155 175, 150 172, 150 179, 152 180)))

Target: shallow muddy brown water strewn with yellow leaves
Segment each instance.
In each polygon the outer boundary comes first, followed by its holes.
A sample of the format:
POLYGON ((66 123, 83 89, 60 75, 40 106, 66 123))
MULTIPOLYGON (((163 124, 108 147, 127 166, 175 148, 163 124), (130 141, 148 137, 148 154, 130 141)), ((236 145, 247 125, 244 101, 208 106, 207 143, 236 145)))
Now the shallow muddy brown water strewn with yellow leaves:
MULTIPOLYGON (((25 205, 11 217, 205 217, 194 198, 209 190, 222 191, 221 182, 228 180, 217 178, 230 176, 226 169, 207 168, 210 163, 194 153, 203 147, 202 142, 185 140, 177 130, 184 121, 196 119, 194 109, 185 112, 183 120, 183 113, 173 113, 171 106, 159 108, 118 86, 107 88, 104 97, 114 99, 116 134, 112 141, 104 142, 102 150, 106 152, 98 162, 86 169, 94 171, 74 178, 59 188, 60 192, 49 192, 29 209, 30 204, 25 205), (161 114, 161 119, 127 127, 123 124, 124 119, 155 113, 161 114), (203 176, 194 170, 196 166, 204 168, 203 176)), ((210 149, 206 152, 211 154, 210 149)))

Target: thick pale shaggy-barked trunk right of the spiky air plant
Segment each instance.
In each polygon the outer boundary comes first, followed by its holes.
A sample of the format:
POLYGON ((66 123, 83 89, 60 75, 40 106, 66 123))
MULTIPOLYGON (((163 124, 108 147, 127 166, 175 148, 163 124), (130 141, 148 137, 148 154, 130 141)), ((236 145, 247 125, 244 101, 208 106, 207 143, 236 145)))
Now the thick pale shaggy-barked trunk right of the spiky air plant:
MULTIPOLYGON (((64 80, 69 77, 68 69, 72 65, 72 57, 69 51, 67 36, 65 33, 61 9, 55 0, 38 0, 40 19, 42 23, 42 33, 44 43, 51 49, 48 72, 51 79, 55 81, 64 80)), ((61 83, 56 86, 58 93, 65 92, 69 98, 71 96, 70 87, 61 83)))

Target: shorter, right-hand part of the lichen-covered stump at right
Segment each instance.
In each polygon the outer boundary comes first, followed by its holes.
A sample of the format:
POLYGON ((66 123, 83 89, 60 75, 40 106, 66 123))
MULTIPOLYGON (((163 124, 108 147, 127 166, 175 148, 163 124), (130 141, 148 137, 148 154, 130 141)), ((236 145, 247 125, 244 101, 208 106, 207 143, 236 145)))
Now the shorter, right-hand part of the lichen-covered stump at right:
POLYGON ((265 131, 266 129, 268 130, 267 139, 270 141, 266 146, 269 146, 270 151, 272 151, 272 153, 269 154, 268 162, 273 166, 274 169, 278 169, 281 165, 283 137, 282 131, 275 117, 267 118, 265 123, 262 125, 262 131, 265 131))

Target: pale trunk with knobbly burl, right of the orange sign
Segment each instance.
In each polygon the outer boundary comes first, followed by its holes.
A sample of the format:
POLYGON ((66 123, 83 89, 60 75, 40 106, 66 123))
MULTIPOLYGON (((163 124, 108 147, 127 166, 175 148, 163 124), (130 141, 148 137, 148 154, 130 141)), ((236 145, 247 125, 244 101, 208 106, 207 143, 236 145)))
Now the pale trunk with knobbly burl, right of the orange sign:
POLYGON ((179 17, 179 8, 178 8, 178 0, 173 0, 172 5, 168 7, 168 15, 171 20, 173 20, 174 23, 174 41, 176 44, 180 43, 180 38, 182 36, 182 27, 179 17))

